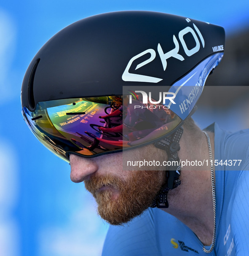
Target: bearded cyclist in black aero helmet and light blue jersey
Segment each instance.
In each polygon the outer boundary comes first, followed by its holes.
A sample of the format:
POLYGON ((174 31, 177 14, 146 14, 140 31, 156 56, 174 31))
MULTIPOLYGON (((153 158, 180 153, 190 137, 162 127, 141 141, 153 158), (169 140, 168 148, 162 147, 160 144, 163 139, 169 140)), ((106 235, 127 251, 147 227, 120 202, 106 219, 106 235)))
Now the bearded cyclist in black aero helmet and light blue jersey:
POLYGON ((224 30, 206 22, 105 13, 57 33, 29 65, 24 119, 70 161, 71 180, 84 181, 112 224, 103 255, 249 255, 249 131, 231 134, 213 124, 203 132, 191 119, 224 42, 224 30), (129 92, 144 104, 134 110, 149 108, 149 101, 174 118, 133 141, 111 147, 100 138, 98 148, 84 150, 94 137, 82 136, 89 128, 84 116, 102 116, 108 97, 129 92), (161 164, 125 171, 125 159, 161 164), (196 164, 182 166, 187 161, 196 164))

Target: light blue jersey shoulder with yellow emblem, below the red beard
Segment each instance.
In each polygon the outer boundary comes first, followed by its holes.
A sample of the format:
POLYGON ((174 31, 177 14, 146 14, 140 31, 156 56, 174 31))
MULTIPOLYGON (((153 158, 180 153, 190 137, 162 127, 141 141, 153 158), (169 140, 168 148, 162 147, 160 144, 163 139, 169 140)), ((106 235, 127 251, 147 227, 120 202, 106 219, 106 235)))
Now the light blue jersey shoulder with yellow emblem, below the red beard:
POLYGON ((129 224, 110 226, 102 256, 206 255, 202 247, 196 235, 177 218, 149 208, 129 224))

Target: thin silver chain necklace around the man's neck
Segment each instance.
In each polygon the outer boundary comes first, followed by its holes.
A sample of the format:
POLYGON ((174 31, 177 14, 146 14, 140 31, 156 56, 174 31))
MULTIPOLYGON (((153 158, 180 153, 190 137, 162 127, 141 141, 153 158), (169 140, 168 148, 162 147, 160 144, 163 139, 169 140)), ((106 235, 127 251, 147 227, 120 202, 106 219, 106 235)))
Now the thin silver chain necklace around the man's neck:
POLYGON ((215 183, 214 183, 214 166, 213 166, 213 155, 212 155, 212 148, 210 143, 209 135, 204 132, 207 137, 207 142, 209 146, 209 161, 210 161, 210 173, 211 173, 211 183, 212 183, 212 197, 213 197, 213 209, 214 209, 214 233, 213 233, 213 240, 209 250, 203 246, 203 251, 205 253, 211 253, 214 249, 215 240, 216 240, 216 221, 215 221, 215 213, 216 213, 216 200, 215 200, 215 183))

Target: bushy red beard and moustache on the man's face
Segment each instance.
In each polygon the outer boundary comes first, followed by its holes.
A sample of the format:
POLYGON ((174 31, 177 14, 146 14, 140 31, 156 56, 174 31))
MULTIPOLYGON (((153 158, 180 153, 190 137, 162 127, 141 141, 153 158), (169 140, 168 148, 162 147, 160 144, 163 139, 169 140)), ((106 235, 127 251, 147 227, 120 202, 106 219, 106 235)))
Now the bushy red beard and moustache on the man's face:
POLYGON ((142 214, 151 205, 164 178, 163 171, 129 171, 128 174, 125 181, 112 174, 94 174, 84 181, 96 199, 99 215, 112 225, 127 223, 142 214))

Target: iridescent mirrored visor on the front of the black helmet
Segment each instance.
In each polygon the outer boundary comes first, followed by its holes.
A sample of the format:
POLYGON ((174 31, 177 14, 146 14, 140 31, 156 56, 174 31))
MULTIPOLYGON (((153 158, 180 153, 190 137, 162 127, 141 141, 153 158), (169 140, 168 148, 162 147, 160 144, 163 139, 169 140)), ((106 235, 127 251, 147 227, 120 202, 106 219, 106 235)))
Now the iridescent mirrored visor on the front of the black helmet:
POLYGON ((94 157, 145 145, 168 134, 181 119, 167 108, 147 108, 129 96, 75 98, 39 102, 22 113, 34 135, 69 162, 69 154, 94 157), (132 109, 134 104, 140 110, 132 109), (135 110, 135 111, 134 111, 135 110))

